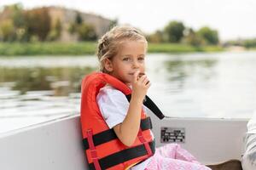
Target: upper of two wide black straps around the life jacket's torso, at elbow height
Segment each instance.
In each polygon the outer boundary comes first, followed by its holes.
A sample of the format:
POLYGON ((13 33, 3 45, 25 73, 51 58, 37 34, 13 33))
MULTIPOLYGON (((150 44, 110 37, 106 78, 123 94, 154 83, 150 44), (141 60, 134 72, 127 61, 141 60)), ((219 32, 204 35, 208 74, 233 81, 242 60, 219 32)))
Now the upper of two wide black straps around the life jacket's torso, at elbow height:
MULTIPOLYGON (((141 120, 141 129, 143 131, 152 129, 152 122, 149 116, 141 120)), ((117 139, 117 138, 118 137, 114 133, 113 128, 103 131, 102 133, 96 133, 92 135, 93 143, 95 146, 99 144, 107 143, 108 141, 117 139)), ((84 150, 89 149, 89 143, 87 138, 83 139, 83 145, 84 145, 84 150)))

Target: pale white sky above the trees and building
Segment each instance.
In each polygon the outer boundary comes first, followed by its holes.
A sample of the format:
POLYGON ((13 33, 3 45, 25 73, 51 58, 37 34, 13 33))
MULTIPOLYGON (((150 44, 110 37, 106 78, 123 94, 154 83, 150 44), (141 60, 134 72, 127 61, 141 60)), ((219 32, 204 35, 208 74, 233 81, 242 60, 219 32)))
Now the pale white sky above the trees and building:
POLYGON ((177 20, 194 30, 210 26, 222 41, 256 38, 255 0, 0 0, 0 7, 12 3, 22 3, 24 8, 55 5, 78 9, 117 19, 119 24, 130 24, 146 33, 177 20))

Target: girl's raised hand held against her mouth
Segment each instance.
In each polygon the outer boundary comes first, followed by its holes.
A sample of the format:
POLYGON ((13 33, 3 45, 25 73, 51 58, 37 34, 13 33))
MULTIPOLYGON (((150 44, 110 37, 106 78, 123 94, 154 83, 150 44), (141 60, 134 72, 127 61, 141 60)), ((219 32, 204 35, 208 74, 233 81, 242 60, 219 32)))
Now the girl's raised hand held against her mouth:
POLYGON ((132 93, 131 96, 134 96, 137 99, 144 99, 147 94, 148 88, 151 83, 148 80, 148 77, 140 71, 134 73, 133 82, 131 82, 132 93), (141 75, 141 76, 140 76, 141 75))

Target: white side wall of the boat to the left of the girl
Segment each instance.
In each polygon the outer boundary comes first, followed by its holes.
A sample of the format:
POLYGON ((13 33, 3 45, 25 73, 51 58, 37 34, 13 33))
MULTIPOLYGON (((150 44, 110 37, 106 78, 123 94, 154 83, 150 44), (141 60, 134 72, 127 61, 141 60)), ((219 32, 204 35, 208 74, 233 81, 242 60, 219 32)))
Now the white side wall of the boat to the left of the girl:
POLYGON ((79 116, 0 134, 0 169, 88 170, 79 116))

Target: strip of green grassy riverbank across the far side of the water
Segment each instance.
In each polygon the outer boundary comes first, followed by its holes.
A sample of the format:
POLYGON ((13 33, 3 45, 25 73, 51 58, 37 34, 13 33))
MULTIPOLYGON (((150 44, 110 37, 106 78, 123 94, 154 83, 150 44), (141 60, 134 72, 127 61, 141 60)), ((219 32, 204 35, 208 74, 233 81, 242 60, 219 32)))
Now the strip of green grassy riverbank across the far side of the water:
MULTIPOLYGON (((194 47, 179 43, 149 43, 148 53, 224 51, 220 46, 194 47)), ((96 42, 0 42, 0 56, 95 54, 96 42)))

